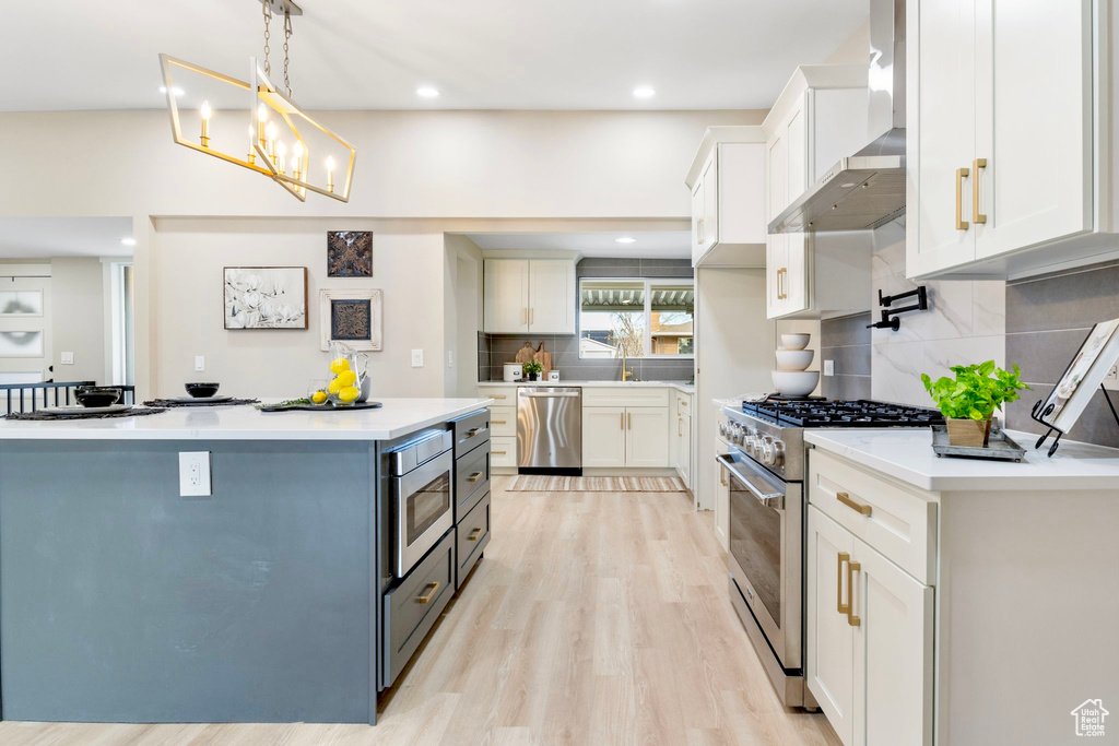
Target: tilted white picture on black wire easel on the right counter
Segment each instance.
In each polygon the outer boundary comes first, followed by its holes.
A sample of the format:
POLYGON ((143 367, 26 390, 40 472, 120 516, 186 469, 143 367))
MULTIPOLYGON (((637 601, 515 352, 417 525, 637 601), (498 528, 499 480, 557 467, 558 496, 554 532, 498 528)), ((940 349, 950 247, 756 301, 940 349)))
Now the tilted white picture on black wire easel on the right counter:
POLYGON ((1037 409, 1038 422, 1068 433, 1100 384, 1119 360, 1119 319, 1096 324, 1049 398, 1037 409))

